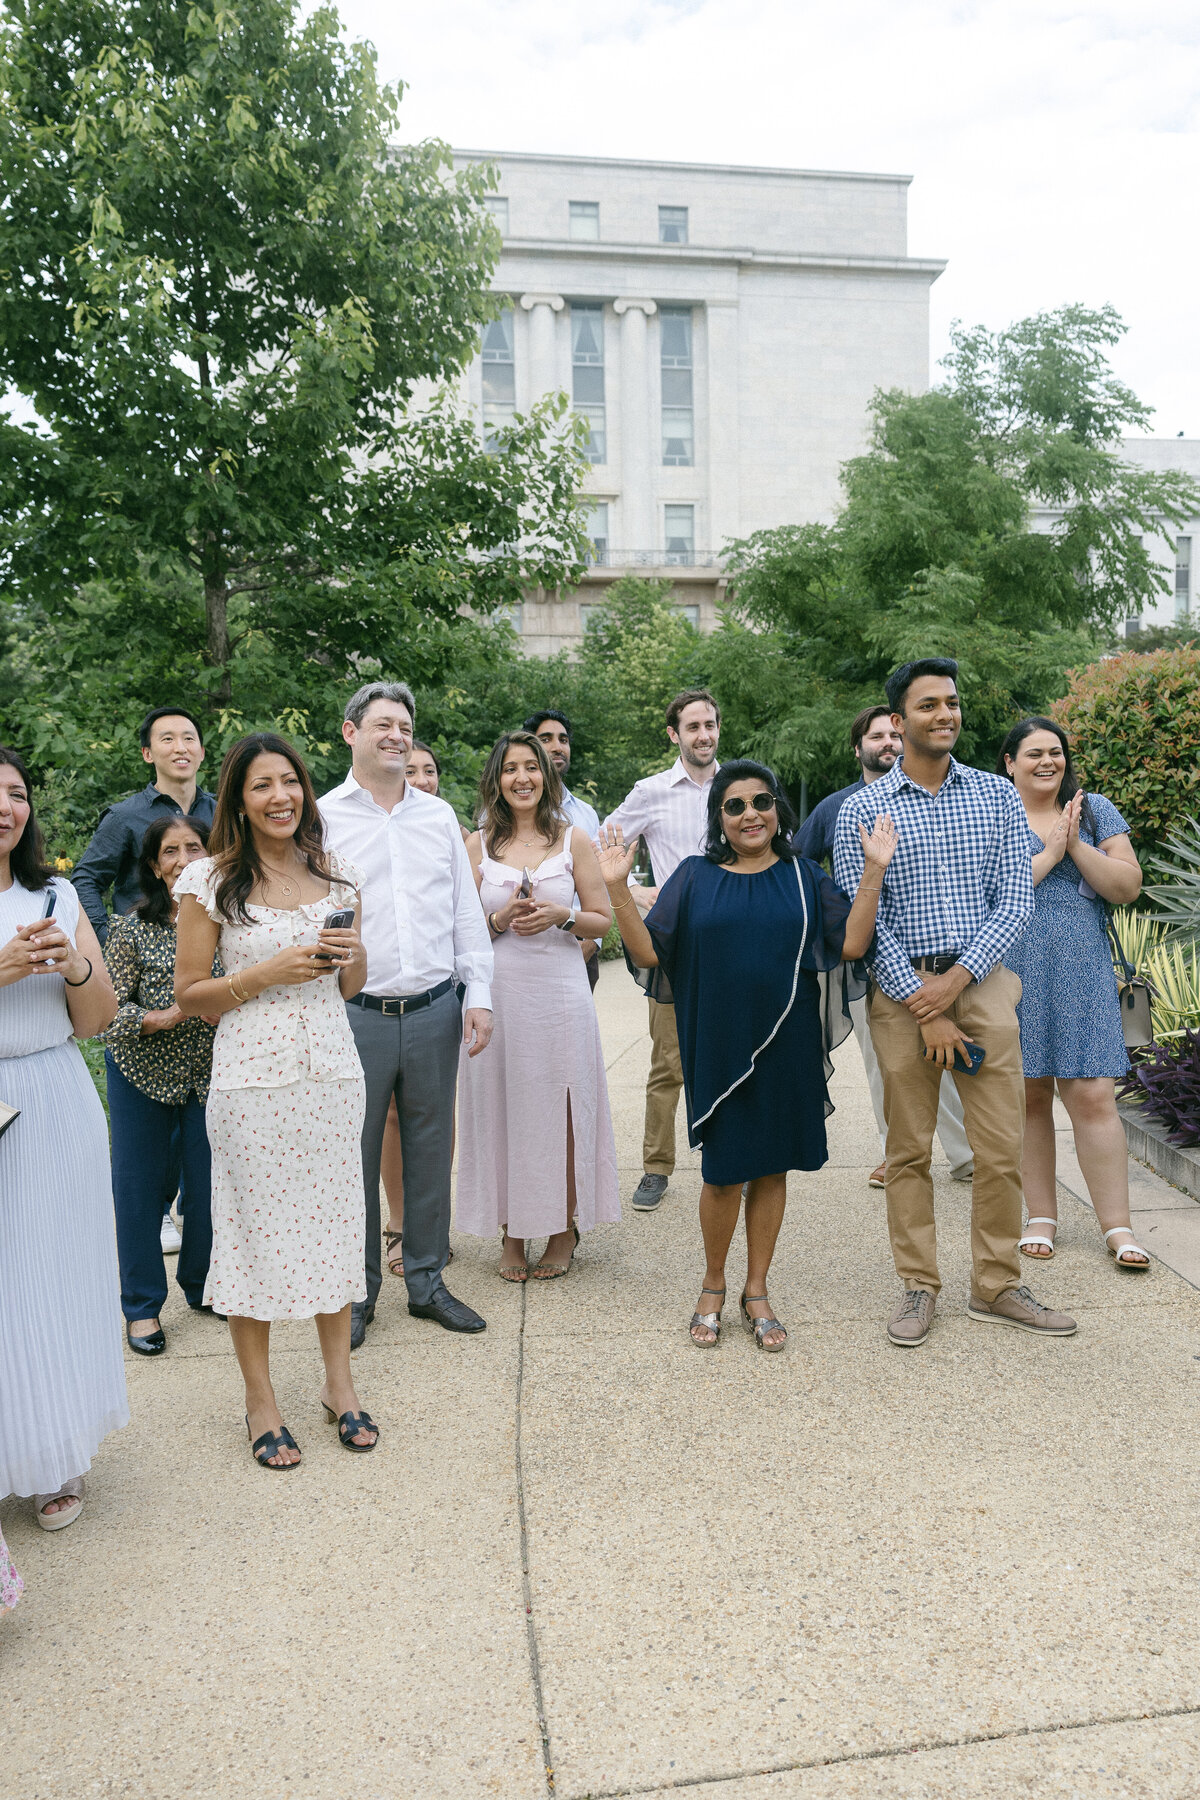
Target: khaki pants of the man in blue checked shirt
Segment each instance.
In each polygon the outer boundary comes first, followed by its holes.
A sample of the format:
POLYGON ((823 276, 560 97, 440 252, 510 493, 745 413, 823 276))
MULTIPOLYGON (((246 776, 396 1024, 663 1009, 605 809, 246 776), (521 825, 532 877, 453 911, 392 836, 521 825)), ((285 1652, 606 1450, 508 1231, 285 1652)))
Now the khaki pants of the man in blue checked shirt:
MULTIPOLYGON (((1025 1130, 1025 1080, 1020 1064, 1016 1001, 1020 979, 1002 965, 959 994, 948 1017, 988 1057, 979 1075, 955 1075, 966 1138, 975 1156, 972 1195, 972 1291, 997 1300, 1020 1287, 1020 1152, 1025 1130)), ((941 1073, 925 1060, 921 1028, 900 1001, 880 988, 867 1003, 871 1040, 883 1071, 887 1109, 887 1231, 896 1274, 907 1289, 937 1292, 934 1183, 928 1172, 941 1073)))

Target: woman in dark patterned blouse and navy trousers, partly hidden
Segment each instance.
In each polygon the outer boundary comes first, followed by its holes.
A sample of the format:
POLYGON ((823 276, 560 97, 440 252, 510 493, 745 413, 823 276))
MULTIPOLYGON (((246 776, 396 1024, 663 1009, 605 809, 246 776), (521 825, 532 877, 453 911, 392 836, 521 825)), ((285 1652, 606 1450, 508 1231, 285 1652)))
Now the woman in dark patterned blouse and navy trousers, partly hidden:
MULTIPOLYGON (((212 1220, 205 1100, 212 1073, 214 1019, 185 1019, 175 1001, 175 886, 209 842, 203 819, 166 814, 151 823, 139 860, 140 902, 108 927, 104 963, 117 992, 117 1017, 104 1031, 108 1118, 113 1139, 113 1201, 121 1310, 130 1350, 162 1355, 167 1267, 162 1255, 162 1195, 169 1192, 173 1139, 182 1150, 187 1208, 175 1278, 193 1310, 203 1307, 212 1220)), ((212 965, 219 974, 219 963, 212 965)))

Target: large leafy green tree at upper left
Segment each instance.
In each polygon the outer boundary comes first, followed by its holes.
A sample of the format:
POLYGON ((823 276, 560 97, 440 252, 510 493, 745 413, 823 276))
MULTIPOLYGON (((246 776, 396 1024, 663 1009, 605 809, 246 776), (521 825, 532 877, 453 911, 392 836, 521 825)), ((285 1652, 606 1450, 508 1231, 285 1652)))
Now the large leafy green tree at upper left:
POLYGON ((92 635, 117 715, 166 668, 320 734, 363 659, 430 679, 464 612, 578 569, 556 405, 486 455, 448 392, 502 304, 491 173, 396 149, 374 52, 297 14, 14 0, 0 31, 0 380, 40 419, 0 428, 5 592, 25 673, 92 635))

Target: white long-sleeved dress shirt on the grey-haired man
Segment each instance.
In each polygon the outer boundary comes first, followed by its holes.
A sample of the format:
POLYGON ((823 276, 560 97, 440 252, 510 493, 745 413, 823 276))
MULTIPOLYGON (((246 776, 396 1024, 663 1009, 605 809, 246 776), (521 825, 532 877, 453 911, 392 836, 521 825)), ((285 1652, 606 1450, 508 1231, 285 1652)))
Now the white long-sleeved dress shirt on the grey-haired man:
POLYGON ((491 1008, 491 938, 453 810, 405 783, 390 812, 353 774, 318 803, 326 844, 363 873, 367 994, 425 994, 446 976, 491 1008))

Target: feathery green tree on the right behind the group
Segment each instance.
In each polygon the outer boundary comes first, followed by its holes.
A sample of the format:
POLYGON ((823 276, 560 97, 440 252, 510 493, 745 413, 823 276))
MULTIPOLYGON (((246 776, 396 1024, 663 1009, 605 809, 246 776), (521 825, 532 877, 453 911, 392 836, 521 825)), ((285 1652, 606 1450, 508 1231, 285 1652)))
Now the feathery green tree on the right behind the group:
POLYGON ((1148 418, 1106 362, 1121 331, 1112 308, 1081 306, 955 329, 943 387, 876 394, 835 524, 732 545, 712 684, 734 733, 810 797, 847 779, 847 720, 898 662, 959 659, 959 754, 990 763, 1013 718, 1065 693, 1112 623, 1166 590, 1142 535, 1200 491, 1119 457, 1148 418), (1038 506, 1051 529, 1034 529, 1038 506))

